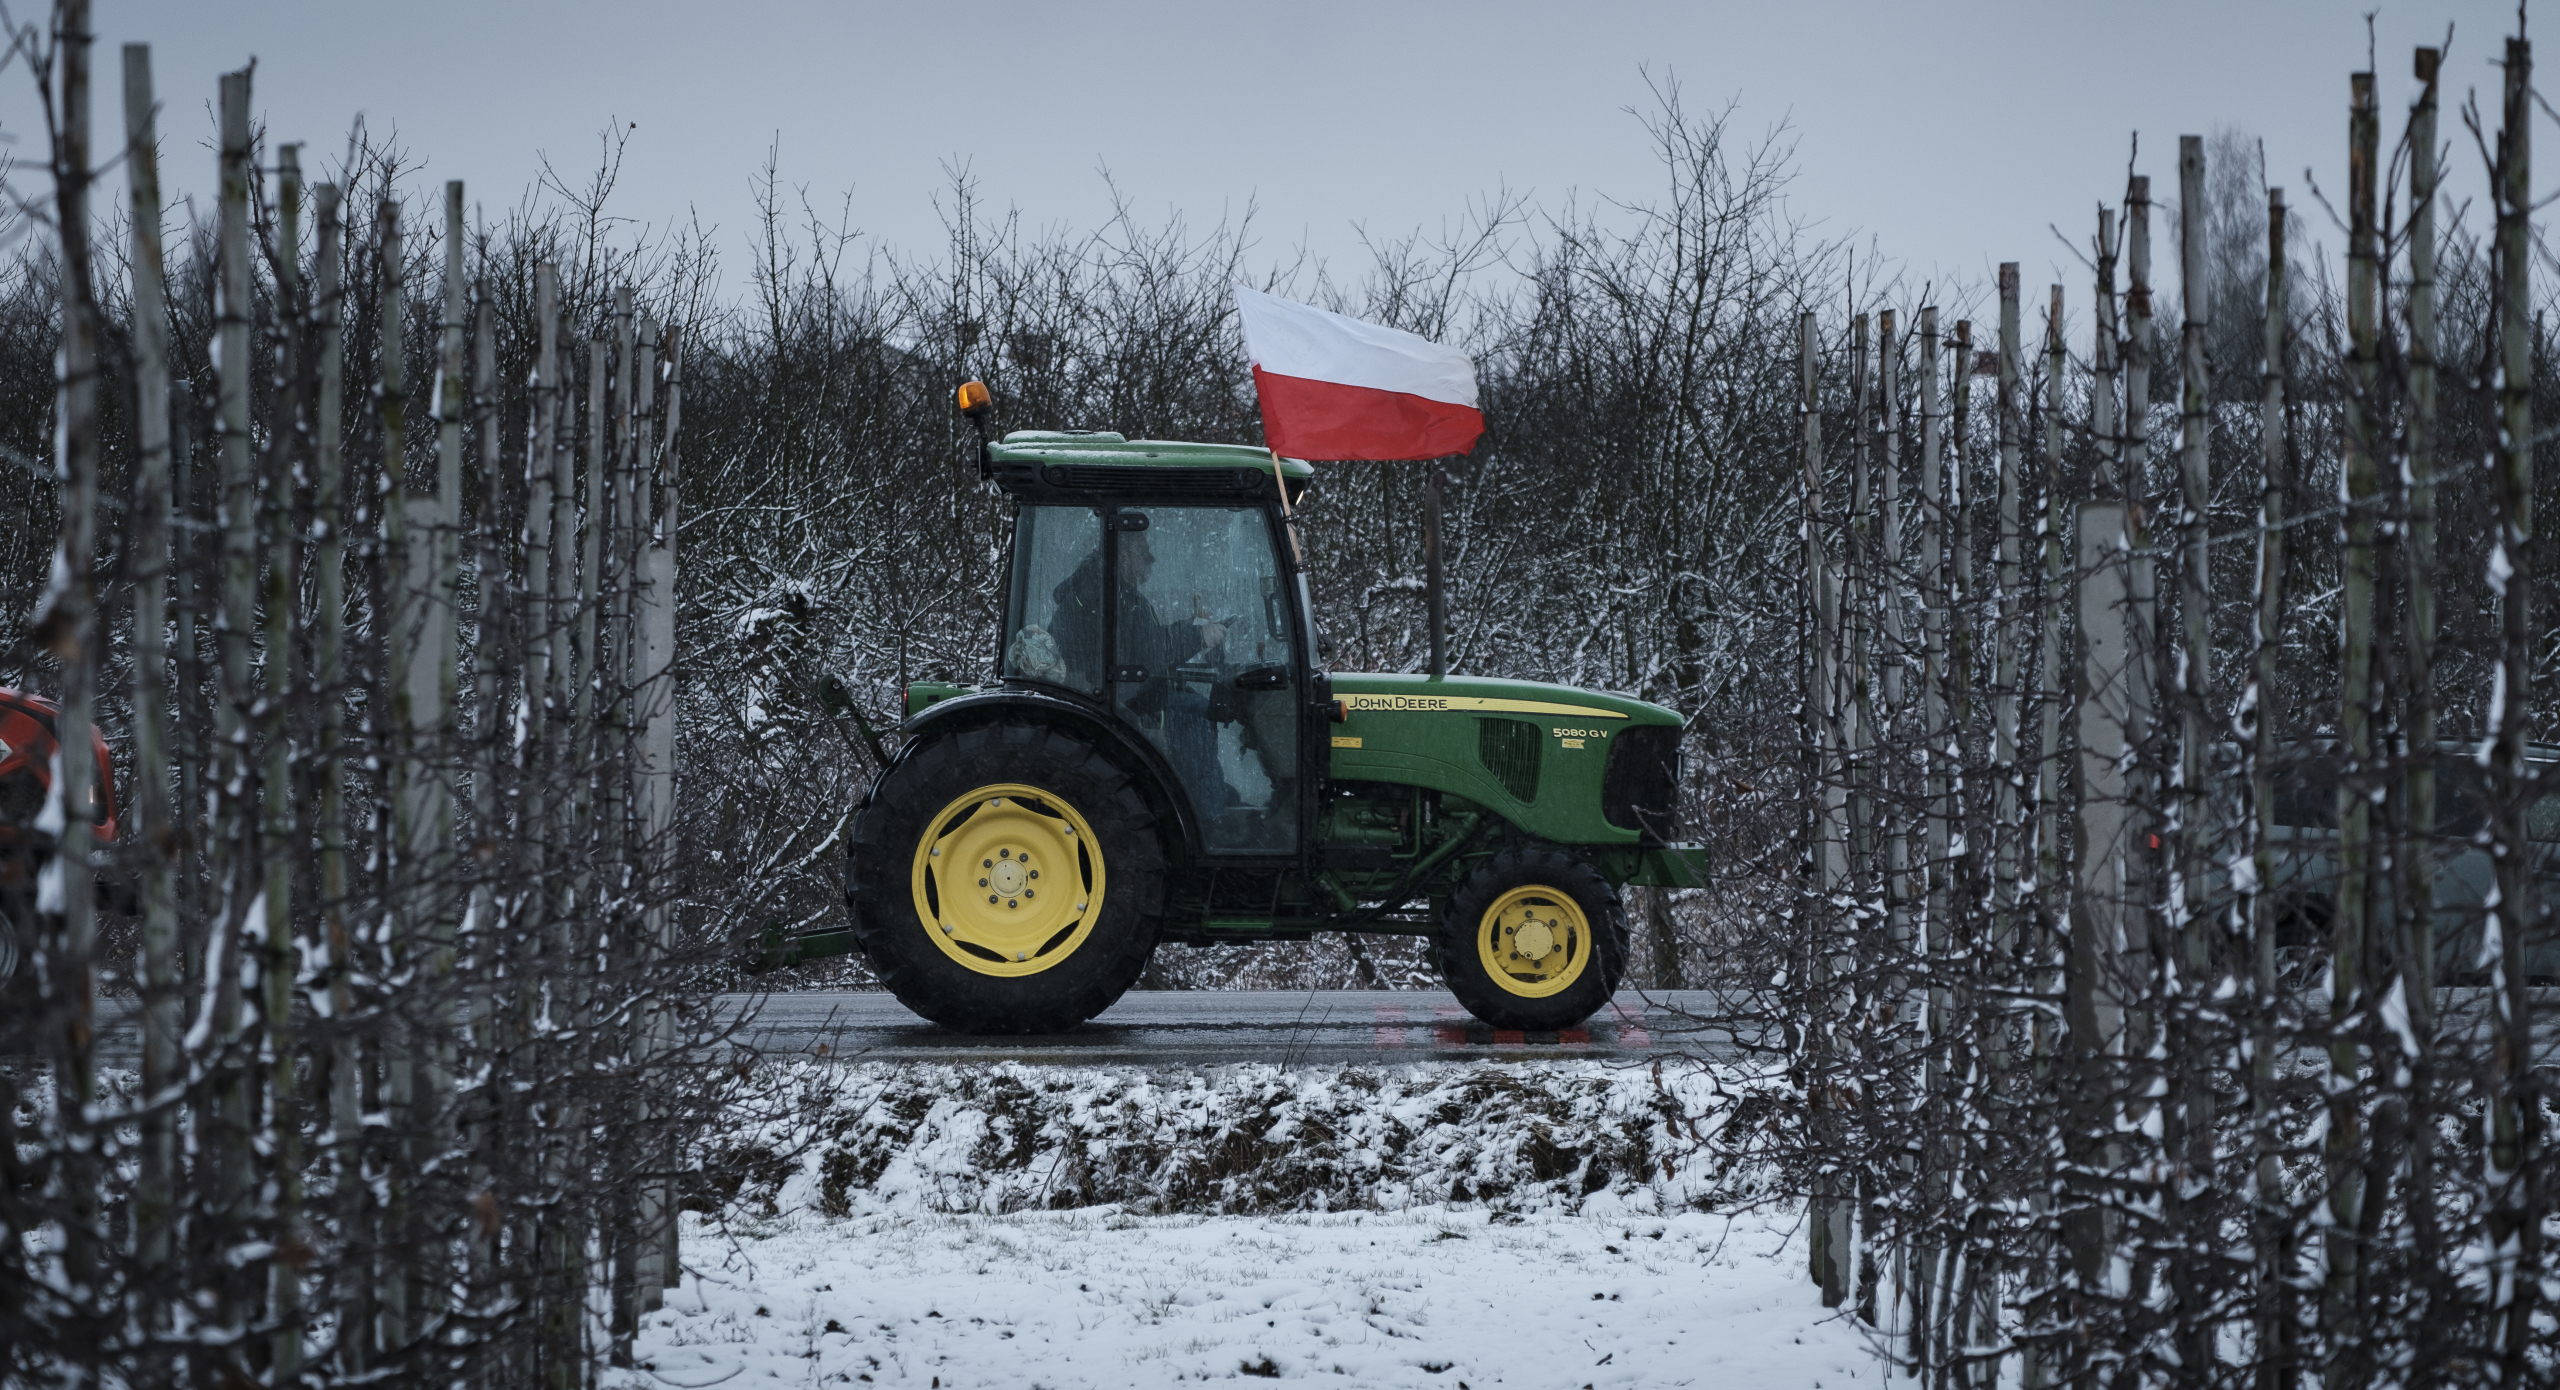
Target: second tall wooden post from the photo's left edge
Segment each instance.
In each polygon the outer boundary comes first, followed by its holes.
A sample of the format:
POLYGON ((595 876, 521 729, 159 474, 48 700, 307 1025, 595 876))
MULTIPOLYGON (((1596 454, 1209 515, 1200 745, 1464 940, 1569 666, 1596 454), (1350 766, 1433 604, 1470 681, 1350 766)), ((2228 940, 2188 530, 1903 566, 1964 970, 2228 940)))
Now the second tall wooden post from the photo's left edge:
MULTIPOLYGON (((133 236, 133 817, 143 847, 143 1149, 133 1249, 164 1272, 177 1201, 179 945, 177 842, 169 801, 169 302, 161 261, 159 131, 151 46, 125 44, 125 174, 133 236)), ((169 1326, 151 1300, 148 1326, 169 1326)))

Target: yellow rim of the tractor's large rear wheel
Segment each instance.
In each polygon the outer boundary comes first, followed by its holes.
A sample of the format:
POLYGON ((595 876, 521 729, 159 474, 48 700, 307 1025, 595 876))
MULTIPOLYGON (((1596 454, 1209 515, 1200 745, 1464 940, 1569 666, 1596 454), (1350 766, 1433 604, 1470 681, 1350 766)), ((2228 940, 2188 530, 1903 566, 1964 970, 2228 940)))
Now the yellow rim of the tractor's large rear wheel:
POLYGON ((916 922, 980 975, 1037 975, 1075 955, 1103 911, 1103 847, 1050 791, 991 783, 916 837, 916 922))

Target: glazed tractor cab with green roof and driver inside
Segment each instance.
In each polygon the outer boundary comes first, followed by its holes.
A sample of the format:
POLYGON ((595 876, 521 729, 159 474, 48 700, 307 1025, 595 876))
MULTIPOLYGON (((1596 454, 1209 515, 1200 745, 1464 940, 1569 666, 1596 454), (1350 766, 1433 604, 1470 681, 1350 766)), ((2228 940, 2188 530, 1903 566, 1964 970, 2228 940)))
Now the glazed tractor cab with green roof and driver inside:
POLYGON ((1303 494, 1306 463, 1114 433, 1014 433, 986 458, 1016 499, 998 678, 1129 737, 1198 855, 1298 858, 1321 673, 1280 481, 1303 494))

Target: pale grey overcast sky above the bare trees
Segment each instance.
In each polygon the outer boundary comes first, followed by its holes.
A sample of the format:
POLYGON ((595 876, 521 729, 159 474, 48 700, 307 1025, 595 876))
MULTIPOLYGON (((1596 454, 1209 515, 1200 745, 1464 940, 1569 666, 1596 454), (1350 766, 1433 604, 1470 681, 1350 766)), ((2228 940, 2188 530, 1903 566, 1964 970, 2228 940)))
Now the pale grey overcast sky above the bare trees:
MULTIPOLYGON (((1692 110, 1738 102, 1746 136, 1792 125, 1792 210, 1874 238, 1910 284, 1981 284, 2017 259, 2030 297, 2061 279, 2079 305, 2086 271, 2048 225, 2086 241, 2092 207, 2122 192, 2135 131, 2163 202, 2176 136, 2225 123, 2266 141, 2296 205, 2309 202, 2304 166, 2342 195, 2345 77, 2365 67, 2365 8, 97 0, 97 118, 118 128, 115 46, 148 41, 166 179, 202 205, 215 74, 256 56, 274 138, 335 151, 364 113, 430 179, 461 177, 492 210, 517 202, 538 156, 579 174, 607 123, 637 123, 614 205, 717 225, 732 289, 750 179, 776 138, 788 182, 829 210, 850 192, 852 223, 886 246, 937 248, 947 164, 965 164, 993 207, 1078 228, 1108 210, 1108 166, 1149 220, 1180 210, 1208 225, 1252 202, 1262 261, 1303 246, 1357 276, 1357 228, 1439 228, 1495 187, 1549 207, 1577 192, 1651 197, 1659 172, 1626 113, 1651 100, 1651 69, 1677 77, 1692 110)), ((2447 97, 2476 87, 2493 108, 2511 5, 2388 5, 2376 20, 2386 141, 2406 110, 2409 49, 2442 41, 2447 23, 2447 97)), ((31 138, 31 118, 13 72, 0 128, 31 138)), ((2445 131, 2468 172, 2468 136, 2450 118, 2445 131)), ((2465 177, 2458 192, 2478 187, 2465 177)), ((2327 215, 2309 215, 2335 243, 2327 215)))

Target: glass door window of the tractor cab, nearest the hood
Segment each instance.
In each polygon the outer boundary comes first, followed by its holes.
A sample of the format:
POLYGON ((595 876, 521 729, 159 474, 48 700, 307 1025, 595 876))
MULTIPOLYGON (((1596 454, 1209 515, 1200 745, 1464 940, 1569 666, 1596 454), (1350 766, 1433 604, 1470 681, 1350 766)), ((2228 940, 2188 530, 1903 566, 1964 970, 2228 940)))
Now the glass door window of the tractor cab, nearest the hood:
POLYGON ((1298 850, 1295 594, 1260 507, 1119 507, 1114 704, 1172 763, 1208 850, 1298 850))

